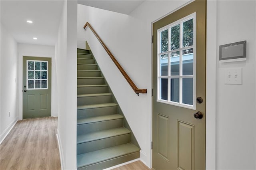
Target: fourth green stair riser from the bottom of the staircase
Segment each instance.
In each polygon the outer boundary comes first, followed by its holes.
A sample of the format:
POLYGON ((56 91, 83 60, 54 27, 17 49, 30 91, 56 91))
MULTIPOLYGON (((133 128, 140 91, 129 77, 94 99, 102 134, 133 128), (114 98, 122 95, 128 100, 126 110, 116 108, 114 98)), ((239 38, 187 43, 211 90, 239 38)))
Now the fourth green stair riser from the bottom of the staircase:
POLYGON ((117 106, 77 110, 77 119, 117 114, 117 106))

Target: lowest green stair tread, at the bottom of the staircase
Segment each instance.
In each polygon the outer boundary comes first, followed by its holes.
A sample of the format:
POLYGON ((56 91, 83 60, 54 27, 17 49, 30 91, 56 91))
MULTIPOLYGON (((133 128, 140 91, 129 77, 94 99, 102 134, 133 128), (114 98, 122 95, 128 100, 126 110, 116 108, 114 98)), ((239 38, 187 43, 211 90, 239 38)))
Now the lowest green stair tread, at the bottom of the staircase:
POLYGON ((119 156, 124 156, 126 154, 131 154, 139 152, 140 149, 132 143, 122 144, 119 146, 114 146, 111 148, 105 148, 102 150, 97 150, 94 152, 89 152, 85 154, 77 155, 77 168, 82 168, 84 166, 89 166, 102 162, 105 160, 110 160, 117 158, 119 156))

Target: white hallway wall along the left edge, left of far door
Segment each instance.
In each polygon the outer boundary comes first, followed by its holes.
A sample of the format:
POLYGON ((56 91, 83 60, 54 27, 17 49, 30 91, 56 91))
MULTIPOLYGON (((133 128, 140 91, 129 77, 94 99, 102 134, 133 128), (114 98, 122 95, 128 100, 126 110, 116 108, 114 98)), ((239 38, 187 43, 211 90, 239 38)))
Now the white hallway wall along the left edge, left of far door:
POLYGON ((2 142, 6 134, 18 120, 17 68, 17 42, 1 24, 0 142, 2 142))

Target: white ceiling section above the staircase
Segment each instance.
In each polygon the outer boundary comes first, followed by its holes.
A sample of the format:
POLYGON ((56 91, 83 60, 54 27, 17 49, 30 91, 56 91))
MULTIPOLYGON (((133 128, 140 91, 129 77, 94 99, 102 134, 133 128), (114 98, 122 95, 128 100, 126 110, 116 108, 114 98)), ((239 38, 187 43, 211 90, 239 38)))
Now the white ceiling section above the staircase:
POLYGON ((144 2, 144 0, 78 0, 78 4, 118 12, 121 14, 130 14, 140 6, 142 2, 144 2))

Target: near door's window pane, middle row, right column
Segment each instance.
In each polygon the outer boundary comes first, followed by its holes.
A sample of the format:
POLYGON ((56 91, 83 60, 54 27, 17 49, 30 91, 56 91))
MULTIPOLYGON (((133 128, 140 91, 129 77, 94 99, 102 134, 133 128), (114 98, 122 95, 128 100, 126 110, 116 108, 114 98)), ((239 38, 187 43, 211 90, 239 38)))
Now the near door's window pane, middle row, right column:
POLYGON ((182 51, 182 73, 183 75, 193 75, 193 48, 182 51))

